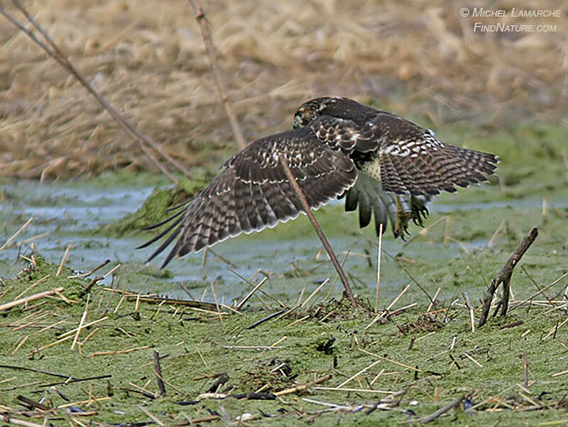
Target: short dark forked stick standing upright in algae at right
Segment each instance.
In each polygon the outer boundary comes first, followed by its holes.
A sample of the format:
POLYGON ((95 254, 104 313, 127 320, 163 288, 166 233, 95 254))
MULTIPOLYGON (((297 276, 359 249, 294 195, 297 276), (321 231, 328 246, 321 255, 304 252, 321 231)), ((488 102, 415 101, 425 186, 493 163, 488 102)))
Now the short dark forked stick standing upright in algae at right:
POLYGON ((510 255, 509 259, 503 265, 503 268, 499 272, 496 277, 493 277, 491 280, 491 284, 484 295, 484 301, 482 304, 481 309, 481 318, 479 319, 479 326, 484 326, 487 321, 489 315, 489 309, 491 306, 491 300, 493 299, 493 295, 495 294, 499 284, 503 284, 503 305, 501 306, 501 316, 505 316, 507 314, 507 309, 509 306, 509 294, 510 294, 510 277, 513 275, 513 269, 515 265, 518 264, 520 259, 525 255, 525 252, 528 250, 532 242, 535 241, 537 238, 538 229, 533 227, 531 231, 528 232, 527 235, 520 241, 517 248, 513 251, 510 255))

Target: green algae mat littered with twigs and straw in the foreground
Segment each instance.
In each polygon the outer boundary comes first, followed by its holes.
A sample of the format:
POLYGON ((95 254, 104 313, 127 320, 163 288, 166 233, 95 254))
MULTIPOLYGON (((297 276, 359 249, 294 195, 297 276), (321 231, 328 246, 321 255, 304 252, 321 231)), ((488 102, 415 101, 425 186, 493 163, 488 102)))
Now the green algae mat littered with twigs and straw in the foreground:
POLYGON ((565 278, 472 330, 468 306, 452 301, 378 316, 345 299, 236 310, 89 289, 90 277, 32 257, 0 294, 0 416, 23 426, 563 424, 565 278))

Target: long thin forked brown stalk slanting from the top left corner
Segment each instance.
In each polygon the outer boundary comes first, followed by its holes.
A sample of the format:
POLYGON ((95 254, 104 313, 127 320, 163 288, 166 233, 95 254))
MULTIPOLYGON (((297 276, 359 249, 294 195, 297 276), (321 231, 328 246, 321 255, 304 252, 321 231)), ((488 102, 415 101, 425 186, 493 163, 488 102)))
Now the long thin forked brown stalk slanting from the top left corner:
POLYGON ((62 50, 58 47, 58 45, 55 44, 55 42, 50 38, 48 33, 45 32, 45 30, 43 30, 43 28, 39 25, 39 23, 35 21, 35 19, 32 16, 30 16, 26 8, 24 8, 19 3, 18 0, 12 0, 12 3, 14 4, 14 6, 16 6, 16 8, 18 8, 23 13, 24 16, 26 16, 26 19, 33 25, 33 27, 36 30, 38 30, 38 32, 43 36, 47 44, 44 43, 42 40, 39 40, 31 30, 28 30, 28 28, 24 27, 19 21, 16 20, 16 18, 13 18, 13 16, 11 16, 8 12, 6 12, 4 8, 0 7, 0 13, 4 15, 4 17, 6 17, 6 19, 8 19, 14 26, 18 27, 23 33, 28 35, 28 37, 31 38, 33 42, 39 45, 40 48, 42 48, 45 51, 45 53, 47 53, 56 62, 58 62, 59 65, 61 65, 63 68, 65 68, 65 70, 70 72, 70 74, 72 74, 82 84, 82 86, 85 89, 87 89, 87 91, 89 91, 89 93, 92 94, 92 96, 94 96, 94 98, 97 99, 97 101, 99 101, 99 104, 101 104, 102 107, 105 110, 107 110, 107 112, 111 115, 111 117, 114 118, 114 120, 116 120, 119 123, 119 125, 124 130, 126 135, 128 135, 129 138, 131 138, 134 142, 138 143, 143 153, 146 154, 148 159, 151 160, 151 162, 156 167, 158 167, 158 170, 160 170, 163 174, 165 174, 165 176, 167 176, 173 182, 175 183, 178 182, 178 179, 176 179, 173 176, 173 174, 171 174, 160 163, 160 161, 150 152, 150 150, 148 150, 148 148, 144 144, 147 144, 151 148, 153 148, 159 155, 161 155, 165 160, 170 162, 171 165, 176 167, 180 172, 185 174, 187 177, 190 178, 192 177, 191 172, 187 170, 180 162, 178 162, 178 160, 175 160, 173 157, 168 155, 168 153, 165 153, 163 148, 159 144, 155 143, 152 138, 150 138, 148 135, 143 133, 140 129, 136 128, 136 126, 133 126, 132 123, 127 121, 126 118, 121 113, 119 113, 119 111, 116 111, 116 109, 114 109, 114 107, 109 103, 109 101, 107 101, 107 99, 104 98, 104 96, 99 94, 99 92, 96 89, 94 89, 94 87, 92 87, 92 85, 89 82, 87 82, 87 79, 83 77, 83 75, 79 72, 79 70, 77 70, 77 68, 74 65, 72 65, 70 60, 62 52, 62 50))

